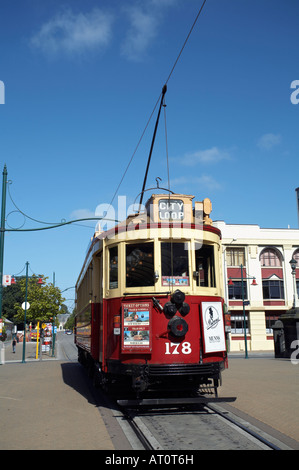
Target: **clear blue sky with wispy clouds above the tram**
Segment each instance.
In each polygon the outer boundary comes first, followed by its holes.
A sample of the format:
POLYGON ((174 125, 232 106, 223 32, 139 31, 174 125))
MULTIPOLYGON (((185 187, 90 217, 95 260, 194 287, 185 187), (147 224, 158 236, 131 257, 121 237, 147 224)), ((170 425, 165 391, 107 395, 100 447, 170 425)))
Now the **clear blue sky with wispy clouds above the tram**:
MULTIPOLYGON (((0 166, 24 213, 59 222, 110 203, 201 4, 2 0, 0 166)), ((168 81, 171 189, 209 197, 214 220, 298 227, 298 17, 297 0, 207 0, 168 81)), ((141 191, 155 119, 118 191, 128 205, 141 191)), ((163 115, 148 187, 158 176, 167 186, 163 115)), ((7 217, 10 227, 23 222, 7 217)), ((7 232, 4 272, 29 261, 31 272, 73 286, 94 225, 7 232)))

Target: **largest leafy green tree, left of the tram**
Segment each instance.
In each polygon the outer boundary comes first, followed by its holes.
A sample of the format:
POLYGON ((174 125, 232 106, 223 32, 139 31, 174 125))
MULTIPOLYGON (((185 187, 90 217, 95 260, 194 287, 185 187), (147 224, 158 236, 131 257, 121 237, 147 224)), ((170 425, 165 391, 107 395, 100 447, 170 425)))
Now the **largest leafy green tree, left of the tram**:
MULTIPOLYGON (((30 304, 30 308, 26 311, 26 321, 28 322, 49 322, 51 318, 61 313, 61 307, 65 299, 62 297, 58 287, 54 287, 52 283, 46 283, 47 279, 42 276, 43 284, 40 285, 37 282, 37 276, 33 275, 28 278, 27 302, 30 304)), ((19 283, 23 294, 22 302, 24 302, 26 278, 22 278, 19 283)), ((14 308, 16 311, 13 317, 14 322, 24 322, 25 312, 20 303, 15 303, 14 308)))

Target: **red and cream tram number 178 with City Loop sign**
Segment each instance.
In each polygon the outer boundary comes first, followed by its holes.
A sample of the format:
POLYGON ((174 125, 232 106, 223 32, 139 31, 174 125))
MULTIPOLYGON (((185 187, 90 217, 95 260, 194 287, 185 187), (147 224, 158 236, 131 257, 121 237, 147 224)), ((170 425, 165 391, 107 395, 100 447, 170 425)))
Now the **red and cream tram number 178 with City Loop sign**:
POLYGON ((217 390, 227 367, 221 234, 211 202, 154 194, 96 232, 76 285, 78 359, 101 384, 217 390))

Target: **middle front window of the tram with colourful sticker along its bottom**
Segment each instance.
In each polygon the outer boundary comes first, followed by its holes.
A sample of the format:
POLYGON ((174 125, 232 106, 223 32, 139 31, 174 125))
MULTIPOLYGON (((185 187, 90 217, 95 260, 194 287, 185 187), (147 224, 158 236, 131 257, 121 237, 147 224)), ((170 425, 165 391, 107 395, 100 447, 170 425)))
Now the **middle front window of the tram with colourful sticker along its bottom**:
POLYGON ((161 243, 162 285, 189 286, 188 245, 161 243))

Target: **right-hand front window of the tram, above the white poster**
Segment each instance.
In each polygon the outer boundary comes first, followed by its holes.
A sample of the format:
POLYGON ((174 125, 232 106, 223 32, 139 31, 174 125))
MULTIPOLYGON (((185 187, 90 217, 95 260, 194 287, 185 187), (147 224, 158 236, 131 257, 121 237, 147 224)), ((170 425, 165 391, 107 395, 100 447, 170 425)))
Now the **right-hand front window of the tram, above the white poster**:
POLYGON ((198 272, 196 285, 201 287, 216 287, 214 247, 202 245, 199 249, 195 249, 195 263, 196 271, 198 272))

